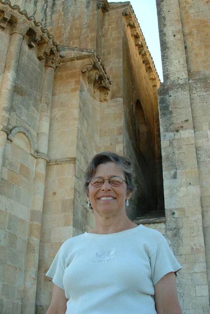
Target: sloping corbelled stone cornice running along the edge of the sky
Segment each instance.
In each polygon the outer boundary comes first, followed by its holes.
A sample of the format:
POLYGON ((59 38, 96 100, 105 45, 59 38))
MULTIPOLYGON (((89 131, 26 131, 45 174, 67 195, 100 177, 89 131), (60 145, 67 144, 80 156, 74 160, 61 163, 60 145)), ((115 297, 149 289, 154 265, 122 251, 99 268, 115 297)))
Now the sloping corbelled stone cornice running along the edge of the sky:
POLYGON ((141 27, 137 21, 135 13, 132 7, 129 5, 122 11, 127 27, 130 27, 131 37, 134 40, 135 46, 138 48, 139 55, 142 59, 142 63, 145 64, 146 72, 153 72, 153 76, 149 74, 149 79, 152 80, 152 86, 160 86, 160 79, 157 74, 153 59, 148 50, 146 40, 144 38, 141 27))

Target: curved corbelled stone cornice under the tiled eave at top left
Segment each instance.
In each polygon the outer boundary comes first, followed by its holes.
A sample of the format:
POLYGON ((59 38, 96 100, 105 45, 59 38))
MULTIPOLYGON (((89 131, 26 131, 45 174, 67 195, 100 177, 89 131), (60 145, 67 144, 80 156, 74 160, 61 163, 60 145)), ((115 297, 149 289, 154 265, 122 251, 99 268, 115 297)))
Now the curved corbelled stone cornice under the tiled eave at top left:
POLYGON ((37 46, 37 58, 46 60, 47 66, 56 69, 60 64, 58 44, 54 41, 48 29, 43 28, 41 22, 36 22, 33 16, 28 16, 27 11, 21 11, 18 5, 11 5, 9 0, 0 0, 0 27, 13 26, 11 33, 28 36, 28 46, 33 49, 37 46))

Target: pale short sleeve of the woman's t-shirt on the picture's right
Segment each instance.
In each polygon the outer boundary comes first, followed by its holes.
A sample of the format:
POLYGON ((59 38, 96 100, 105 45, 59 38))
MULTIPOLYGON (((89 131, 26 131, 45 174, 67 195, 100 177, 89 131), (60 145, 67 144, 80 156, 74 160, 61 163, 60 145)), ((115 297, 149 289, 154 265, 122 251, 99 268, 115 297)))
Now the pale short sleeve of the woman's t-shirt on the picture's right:
POLYGON ((153 286, 170 272, 177 272, 181 269, 180 263, 175 258, 164 236, 157 243, 156 250, 150 256, 151 280, 153 286))

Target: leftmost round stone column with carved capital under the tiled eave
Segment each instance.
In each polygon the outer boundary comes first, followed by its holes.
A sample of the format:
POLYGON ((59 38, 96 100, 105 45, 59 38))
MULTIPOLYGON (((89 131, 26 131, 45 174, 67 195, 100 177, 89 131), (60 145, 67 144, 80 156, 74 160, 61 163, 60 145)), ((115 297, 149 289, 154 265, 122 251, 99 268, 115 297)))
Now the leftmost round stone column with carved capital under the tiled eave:
POLYGON ((0 91, 0 178, 4 158, 6 143, 6 127, 9 122, 9 113, 13 100, 14 87, 17 77, 20 52, 25 34, 29 29, 29 24, 23 20, 18 20, 11 33, 5 70, 0 91))

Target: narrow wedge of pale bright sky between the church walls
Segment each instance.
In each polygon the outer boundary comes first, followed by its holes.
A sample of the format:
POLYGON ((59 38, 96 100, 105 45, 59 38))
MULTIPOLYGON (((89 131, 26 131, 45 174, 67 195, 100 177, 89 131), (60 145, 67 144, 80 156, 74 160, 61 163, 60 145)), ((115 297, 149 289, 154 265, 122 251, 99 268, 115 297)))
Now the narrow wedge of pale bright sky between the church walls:
MULTIPOLYGON (((122 0, 109 0, 109 2, 122 2, 122 0)), ((141 26, 159 78, 163 81, 156 1, 130 0, 130 3, 141 26)))

